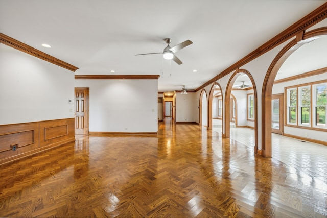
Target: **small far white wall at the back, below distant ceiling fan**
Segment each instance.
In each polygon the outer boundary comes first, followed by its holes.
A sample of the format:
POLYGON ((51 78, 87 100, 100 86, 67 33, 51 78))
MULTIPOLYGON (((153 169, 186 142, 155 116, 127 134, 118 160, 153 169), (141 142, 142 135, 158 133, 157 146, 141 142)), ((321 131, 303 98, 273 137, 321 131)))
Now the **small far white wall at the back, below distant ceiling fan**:
POLYGON ((196 122, 195 93, 188 94, 176 93, 176 122, 196 122))

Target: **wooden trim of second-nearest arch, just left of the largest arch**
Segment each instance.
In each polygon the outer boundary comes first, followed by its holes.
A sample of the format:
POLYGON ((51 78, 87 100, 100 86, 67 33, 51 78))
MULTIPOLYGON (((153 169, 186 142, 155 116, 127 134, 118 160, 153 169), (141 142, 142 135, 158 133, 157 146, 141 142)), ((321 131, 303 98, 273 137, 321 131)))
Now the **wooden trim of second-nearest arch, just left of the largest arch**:
POLYGON ((227 83, 227 89, 225 93, 225 116, 224 116, 224 137, 229 138, 230 137, 230 123, 229 123, 229 117, 230 117, 230 96, 231 96, 231 90, 232 85, 238 78, 238 74, 243 73, 246 74, 252 83, 253 86, 253 93, 254 93, 254 152, 258 153, 258 94, 256 92, 256 85, 254 82, 254 79, 250 72, 246 69, 236 69, 236 71, 231 75, 228 83, 227 83))

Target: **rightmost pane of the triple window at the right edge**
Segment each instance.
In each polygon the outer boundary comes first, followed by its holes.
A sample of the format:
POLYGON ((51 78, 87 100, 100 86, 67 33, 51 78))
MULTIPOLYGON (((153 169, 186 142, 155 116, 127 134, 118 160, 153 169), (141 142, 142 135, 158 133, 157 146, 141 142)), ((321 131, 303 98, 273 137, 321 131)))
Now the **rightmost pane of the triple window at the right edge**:
POLYGON ((313 85, 314 127, 326 128, 327 83, 313 85))

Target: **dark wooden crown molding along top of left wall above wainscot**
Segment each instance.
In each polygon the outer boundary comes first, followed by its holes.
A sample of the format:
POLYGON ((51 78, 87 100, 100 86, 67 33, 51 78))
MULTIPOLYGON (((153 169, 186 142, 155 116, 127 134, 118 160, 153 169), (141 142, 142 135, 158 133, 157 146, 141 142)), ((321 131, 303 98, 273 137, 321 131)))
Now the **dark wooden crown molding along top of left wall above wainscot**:
POLYGON ((5 45, 8 45, 10 47, 13 47, 14 49, 17 49, 21 52, 25 52, 29 55, 32 55, 34 57, 37 57, 37 58, 40 58, 42 60, 45 60, 45 61, 48 61, 50 63, 53 63, 55 65, 58 65, 58 66, 61 66, 65 69, 68 69, 68 70, 71 70, 73 72, 75 72, 78 68, 76 66, 73 66, 71 64, 68 64, 62 60, 59 60, 51 55, 48 55, 44 52, 41 52, 37 49, 34 49, 33 47, 25 44, 25 43, 22 43, 16 39, 13 39, 3 33, 0 33, 0 42, 5 44, 5 45))

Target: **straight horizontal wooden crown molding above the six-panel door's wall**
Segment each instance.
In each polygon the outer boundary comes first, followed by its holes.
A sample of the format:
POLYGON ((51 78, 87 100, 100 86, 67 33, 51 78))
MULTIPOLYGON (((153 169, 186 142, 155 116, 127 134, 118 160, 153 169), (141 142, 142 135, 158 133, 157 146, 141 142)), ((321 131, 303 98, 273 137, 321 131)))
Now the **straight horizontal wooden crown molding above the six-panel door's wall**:
POLYGON ((76 80, 157 80, 160 75, 75 75, 76 80))

